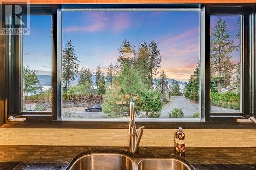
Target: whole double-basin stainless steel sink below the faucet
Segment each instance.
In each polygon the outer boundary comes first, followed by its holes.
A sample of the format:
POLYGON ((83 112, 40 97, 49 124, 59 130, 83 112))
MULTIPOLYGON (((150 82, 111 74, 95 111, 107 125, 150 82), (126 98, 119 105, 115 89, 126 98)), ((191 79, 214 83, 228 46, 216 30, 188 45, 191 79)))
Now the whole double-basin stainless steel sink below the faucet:
POLYGON ((194 170, 183 158, 134 158, 117 153, 80 155, 67 167, 69 170, 194 170))

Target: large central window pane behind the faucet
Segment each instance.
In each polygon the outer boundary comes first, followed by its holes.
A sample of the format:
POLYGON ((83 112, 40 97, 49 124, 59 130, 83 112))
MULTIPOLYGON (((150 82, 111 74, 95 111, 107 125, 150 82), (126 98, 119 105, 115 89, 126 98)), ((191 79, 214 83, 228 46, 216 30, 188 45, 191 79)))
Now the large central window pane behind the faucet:
POLYGON ((62 118, 200 118, 199 10, 63 10, 62 118))

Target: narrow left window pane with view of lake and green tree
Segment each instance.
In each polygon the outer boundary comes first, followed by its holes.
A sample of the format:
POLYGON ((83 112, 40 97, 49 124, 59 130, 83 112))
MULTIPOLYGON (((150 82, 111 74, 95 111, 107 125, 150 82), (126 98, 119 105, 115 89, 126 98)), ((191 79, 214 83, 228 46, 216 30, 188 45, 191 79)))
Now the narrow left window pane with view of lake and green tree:
POLYGON ((22 112, 51 112, 52 17, 29 17, 30 35, 22 36, 22 112))

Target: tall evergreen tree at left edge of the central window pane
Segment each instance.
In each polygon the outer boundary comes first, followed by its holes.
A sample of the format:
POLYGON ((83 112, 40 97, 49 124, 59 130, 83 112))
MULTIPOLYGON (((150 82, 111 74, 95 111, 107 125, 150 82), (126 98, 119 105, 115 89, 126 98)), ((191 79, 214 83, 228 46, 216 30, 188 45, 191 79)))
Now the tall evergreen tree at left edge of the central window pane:
POLYGON ((65 48, 63 49, 63 84, 65 84, 65 90, 69 91, 69 83, 71 80, 75 80, 75 76, 78 74, 78 67, 80 62, 76 55, 72 41, 68 40, 65 48))

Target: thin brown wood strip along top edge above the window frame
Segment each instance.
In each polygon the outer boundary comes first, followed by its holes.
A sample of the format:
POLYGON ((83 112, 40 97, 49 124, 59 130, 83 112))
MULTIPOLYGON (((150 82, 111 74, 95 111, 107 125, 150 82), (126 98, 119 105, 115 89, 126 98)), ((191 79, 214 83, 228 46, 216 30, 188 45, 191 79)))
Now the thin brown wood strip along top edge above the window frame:
MULTIPOLYGON (((6 0, 5 2, 7 2, 6 0)), ((21 0, 24 1, 24 0, 21 0)), ((26 0, 25 0, 26 1, 26 0)), ((27 0, 30 4, 256 3, 256 0, 27 0)), ((9 0, 9 2, 17 2, 9 0)))

